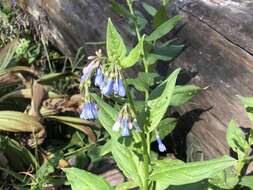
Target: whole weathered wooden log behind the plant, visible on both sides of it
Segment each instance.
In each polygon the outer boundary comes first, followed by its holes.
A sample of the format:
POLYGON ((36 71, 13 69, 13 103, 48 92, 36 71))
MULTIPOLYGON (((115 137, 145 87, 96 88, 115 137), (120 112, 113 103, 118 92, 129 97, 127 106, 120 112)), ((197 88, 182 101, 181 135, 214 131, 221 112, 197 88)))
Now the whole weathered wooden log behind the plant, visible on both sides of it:
MULTIPOLYGON (((108 17, 129 39, 109 0, 20 3, 42 23, 43 34, 65 53, 72 54, 87 41, 103 41, 108 17)), ((173 138, 182 142, 178 145, 182 154, 188 144, 193 155, 201 150, 206 159, 213 158, 229 151, 225 133, 232 118, 251 127, 236 95, 253 95, 253 4, 250 0, 174 0, 172 4, 172 11, 182 15, 185 23, 178 37, 188 46, 173 64, 184 68, 191 82, 208 87, 177 110, 187 113, 173 138), (181 140, 182 134, 187 143, 181 140)))

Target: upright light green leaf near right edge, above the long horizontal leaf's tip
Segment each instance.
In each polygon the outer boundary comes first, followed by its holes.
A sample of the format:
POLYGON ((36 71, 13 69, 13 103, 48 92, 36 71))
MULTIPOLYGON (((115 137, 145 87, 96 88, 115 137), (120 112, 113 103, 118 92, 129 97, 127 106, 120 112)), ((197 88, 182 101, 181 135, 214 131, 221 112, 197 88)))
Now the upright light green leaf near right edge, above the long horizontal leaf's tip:
POLYGON ((238 154, 239 160, 243 159, 245 151, 249 147, 243 131, 235 121, 231 121, 227 128, 227 143, 238 154))

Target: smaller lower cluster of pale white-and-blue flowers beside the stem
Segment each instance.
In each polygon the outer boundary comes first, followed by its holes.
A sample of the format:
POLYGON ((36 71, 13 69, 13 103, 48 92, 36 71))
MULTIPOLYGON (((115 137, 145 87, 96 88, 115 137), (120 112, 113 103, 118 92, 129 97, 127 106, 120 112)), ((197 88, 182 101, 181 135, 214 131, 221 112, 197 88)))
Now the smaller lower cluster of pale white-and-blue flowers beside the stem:
POLYGON ((127 137, 130 135, 130 130, 135 128, 136 132, 140 132, 141 129, 137 123, 136 118, 134 118, 133 112, 128 104, 123 106, 119 115, 114 123, 112 130, 119 131, 121 129, 121 135, 127 137))

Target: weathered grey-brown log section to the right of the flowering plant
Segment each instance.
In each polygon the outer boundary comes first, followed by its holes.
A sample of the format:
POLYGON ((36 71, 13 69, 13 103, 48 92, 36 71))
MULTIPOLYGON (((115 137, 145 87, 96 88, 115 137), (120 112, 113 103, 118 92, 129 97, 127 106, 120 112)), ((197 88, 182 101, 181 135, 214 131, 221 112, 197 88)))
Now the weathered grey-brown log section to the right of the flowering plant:
MULTIPOLYGON (((187 41, 188 48, 173 64, 186 69, 191 82, 207 87, 180 108, 181 114, 190 112, 192 118, 187 117, 178 130, 190 130, 188 152, 194 154, 189 149, 198 147, 196 151, 200 148, 205 158, 214 158, 229 151, 225 135, 231 119, 252 127, 237 95, 253 95, 253 28, 249 27, 253 4, 222 0, 174 3, 186 23, 178 36, 187 41)), ((185 145, 180 146, 184 151, 185 145)))

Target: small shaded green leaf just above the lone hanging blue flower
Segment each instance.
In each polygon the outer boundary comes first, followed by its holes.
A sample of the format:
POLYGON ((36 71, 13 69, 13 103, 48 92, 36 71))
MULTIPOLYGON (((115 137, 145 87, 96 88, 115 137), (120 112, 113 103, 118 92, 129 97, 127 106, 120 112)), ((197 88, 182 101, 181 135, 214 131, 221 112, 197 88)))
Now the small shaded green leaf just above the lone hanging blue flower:
MULTIPOLYGON (((176 127, 177 119, 176 118, 166 118, 160 121, 157 126, 157 130, 159 132, 159 136, 161 139, 165 138, 169 135, 176 127)), ((156 135, 153 133, 151 137, 151 142, 156 140, 156 135)))

